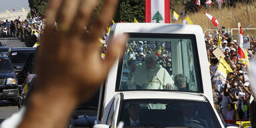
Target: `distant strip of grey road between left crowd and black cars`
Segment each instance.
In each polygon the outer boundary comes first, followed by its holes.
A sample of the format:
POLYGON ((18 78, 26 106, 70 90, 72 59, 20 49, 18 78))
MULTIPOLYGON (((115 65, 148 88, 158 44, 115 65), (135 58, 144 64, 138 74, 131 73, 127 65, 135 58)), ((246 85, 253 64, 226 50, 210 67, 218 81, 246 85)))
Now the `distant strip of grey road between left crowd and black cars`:
POLYGON ((19 41, 18 38, 0 38, 1 43, 5 44, 6 47, 25 47, 25 43, 19 41))

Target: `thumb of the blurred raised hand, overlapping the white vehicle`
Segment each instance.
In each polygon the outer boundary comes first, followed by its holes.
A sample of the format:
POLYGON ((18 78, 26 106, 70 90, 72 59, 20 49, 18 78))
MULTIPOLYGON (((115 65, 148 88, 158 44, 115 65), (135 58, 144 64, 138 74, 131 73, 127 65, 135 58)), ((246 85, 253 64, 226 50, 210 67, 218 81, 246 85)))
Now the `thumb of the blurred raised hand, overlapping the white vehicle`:
POLYGON ((116 62, 117 57, 119 56, 120 60, 123 57, 123 52, 125 50, 127 38, 127 35, 117 36, 107 47, 106 57, 103 61, 104 67, 102 69, 102 78, 105 78, 105 76, 109 72, 109 69, 116 62))

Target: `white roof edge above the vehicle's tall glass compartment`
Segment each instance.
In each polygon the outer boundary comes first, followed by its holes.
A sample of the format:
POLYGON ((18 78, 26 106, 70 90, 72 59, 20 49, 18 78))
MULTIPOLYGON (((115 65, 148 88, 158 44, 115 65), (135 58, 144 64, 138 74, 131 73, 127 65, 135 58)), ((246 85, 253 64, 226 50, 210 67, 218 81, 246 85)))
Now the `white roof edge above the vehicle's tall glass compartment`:
MULTIPOLYGON (((116 23, 113 29, 117 33, 176 33, 176 34, 196 34, 203 33, 199 25, 182 25, 173 23, 116 23)), ((203 34, 202 34, 203 35, 203 34)))

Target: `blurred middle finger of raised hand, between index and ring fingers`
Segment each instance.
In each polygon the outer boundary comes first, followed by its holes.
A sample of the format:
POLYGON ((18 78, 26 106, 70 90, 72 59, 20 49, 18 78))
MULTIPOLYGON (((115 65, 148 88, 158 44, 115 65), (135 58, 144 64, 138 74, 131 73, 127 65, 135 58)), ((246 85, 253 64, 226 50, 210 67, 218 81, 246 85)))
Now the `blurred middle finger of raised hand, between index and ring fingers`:
POLYGON ((81 36, 85 32, 84 28, 89 23, 91 13, 98 3, 99 0, 84 0, 83 3, 81 3, 81 7, 79 8, 77 17, 75 18, 76 21, 73 23, 75 26, 73 27, 72 31, 75 33, 75 35, 81 36))

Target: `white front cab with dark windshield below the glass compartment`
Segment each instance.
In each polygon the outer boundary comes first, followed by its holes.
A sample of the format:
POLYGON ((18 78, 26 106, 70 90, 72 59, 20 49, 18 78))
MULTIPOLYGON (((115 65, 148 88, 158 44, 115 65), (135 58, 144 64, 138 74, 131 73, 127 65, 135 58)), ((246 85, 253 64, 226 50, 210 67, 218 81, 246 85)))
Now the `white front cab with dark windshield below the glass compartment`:
POLYGON ((126 127, 224 127, 206 97, 180 92, 117 93, 107 111, 106 125, 126 127), (163 97, 164 95, 164 97, 163 97))

